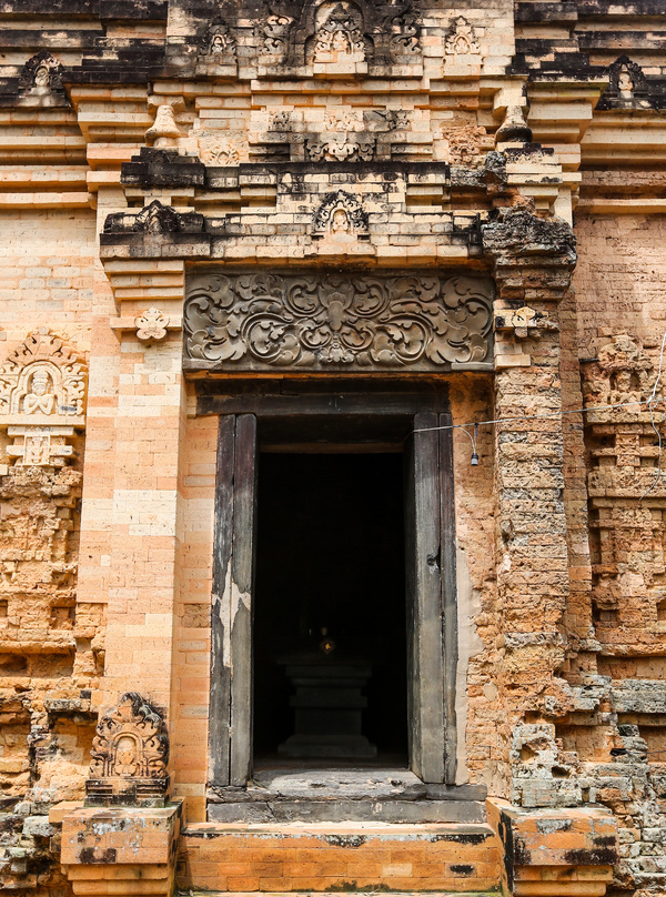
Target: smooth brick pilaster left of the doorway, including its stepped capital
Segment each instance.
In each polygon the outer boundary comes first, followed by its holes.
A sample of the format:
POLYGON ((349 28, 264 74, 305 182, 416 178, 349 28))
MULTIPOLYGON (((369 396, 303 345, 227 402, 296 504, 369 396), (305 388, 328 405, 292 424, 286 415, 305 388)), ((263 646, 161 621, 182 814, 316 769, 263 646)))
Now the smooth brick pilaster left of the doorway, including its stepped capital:
MULTIPOLYGON (((100 215, 100 231, 105 213, 118 208, 113 199, 100 215)), ((132 236, 143 243, 142 234, 132 236)), ((81 587, 107 604, 98 706, 111 706, 123 692, 135 691, 168 712, 180 587, 184 265, 164 258, 159 234, 137 252, 125 245, 105 249, 104 238, 104 280, 113 290, 115 313, 109 309, 111 314, 98 322, 104 351, 91 387, 99 425, 93 425, 85 458, 81 587), (135 319, 151 308, 165 315, 169 326, 145 339, 135 319)))

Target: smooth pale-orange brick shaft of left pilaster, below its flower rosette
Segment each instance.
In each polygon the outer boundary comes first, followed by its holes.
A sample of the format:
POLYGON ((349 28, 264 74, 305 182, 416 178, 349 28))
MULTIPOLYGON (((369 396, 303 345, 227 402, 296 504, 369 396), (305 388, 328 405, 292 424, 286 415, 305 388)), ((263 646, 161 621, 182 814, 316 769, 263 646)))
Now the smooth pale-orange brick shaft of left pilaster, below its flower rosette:
POLYGON ((142 344, 123 332, 108 563, 104 692, 169 706, 178 591, 178 466, 183 424, 180 333, 142 344))

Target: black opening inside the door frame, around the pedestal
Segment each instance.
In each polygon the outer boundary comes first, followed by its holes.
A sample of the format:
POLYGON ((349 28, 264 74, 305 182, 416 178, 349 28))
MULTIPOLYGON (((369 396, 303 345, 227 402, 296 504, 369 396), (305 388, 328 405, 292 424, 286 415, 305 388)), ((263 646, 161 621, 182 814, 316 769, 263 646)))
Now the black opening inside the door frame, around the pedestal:
POLYGON ((406 765, 403 455, 263 453, 255 582, 255 765, 294 734, 290 661, 323 656, 326 642, 334 662, 371 667, 362 734, 376 745, 372 762, 406 765))

